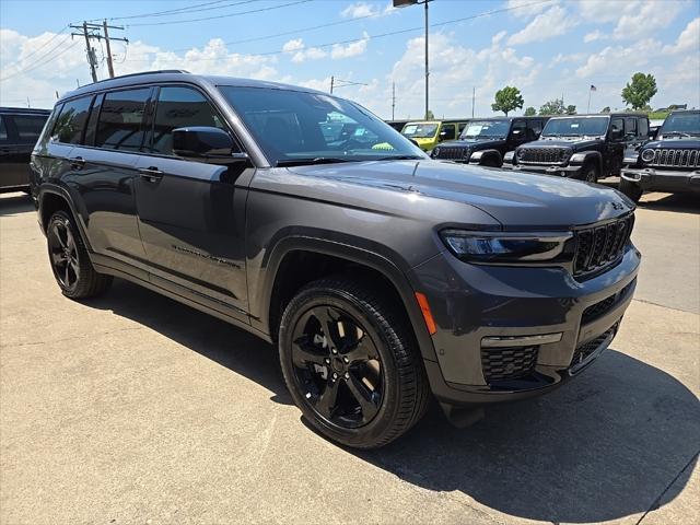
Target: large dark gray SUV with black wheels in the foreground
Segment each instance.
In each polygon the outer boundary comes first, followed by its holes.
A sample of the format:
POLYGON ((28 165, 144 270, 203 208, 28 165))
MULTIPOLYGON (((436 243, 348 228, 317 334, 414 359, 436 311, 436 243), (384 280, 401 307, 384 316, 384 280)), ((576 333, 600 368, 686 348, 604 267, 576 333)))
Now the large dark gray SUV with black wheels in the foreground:
POLYGON ((65 295, 117 276, 277 345, 304 416, 357 447, 407 431, 431 390, 464 421, 576 375, 640 264, 615 190, 435 162, 352 102, 270 82, 81 88, 33 167, 65 295), (330 121, 362 140, 329 142, 330 121))

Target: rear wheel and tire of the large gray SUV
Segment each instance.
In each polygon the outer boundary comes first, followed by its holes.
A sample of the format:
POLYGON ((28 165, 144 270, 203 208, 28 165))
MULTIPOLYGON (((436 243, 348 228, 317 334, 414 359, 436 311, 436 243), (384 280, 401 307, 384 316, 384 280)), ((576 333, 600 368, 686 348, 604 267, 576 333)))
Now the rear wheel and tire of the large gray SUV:
POLYGON ((109 288, 112 276, 95 271, 85 243, 69 213, 59 210, 51 215, 46 240, 49 264, 63 295, 70 299, 93 298, 109 288))

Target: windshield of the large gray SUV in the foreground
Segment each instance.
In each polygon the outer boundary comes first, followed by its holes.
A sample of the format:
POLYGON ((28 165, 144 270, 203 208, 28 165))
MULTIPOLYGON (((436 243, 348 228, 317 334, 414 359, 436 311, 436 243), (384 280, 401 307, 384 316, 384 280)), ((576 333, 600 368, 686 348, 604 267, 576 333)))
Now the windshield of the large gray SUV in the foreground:
POLYGON ((272 165, 425 155, 363 107, 322 93, 221 86, 272 165))

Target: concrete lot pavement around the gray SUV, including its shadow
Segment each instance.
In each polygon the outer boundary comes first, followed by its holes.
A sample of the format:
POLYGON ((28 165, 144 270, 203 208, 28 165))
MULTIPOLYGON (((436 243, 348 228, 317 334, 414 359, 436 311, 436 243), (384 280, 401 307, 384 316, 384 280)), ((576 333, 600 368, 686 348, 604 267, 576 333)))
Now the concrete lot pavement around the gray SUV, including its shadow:
POLYGON ((637 296, 593 368, 358 453, 253 336, 124 281, 65 299, 31 202, 0 197, 0 523, 700 523, 700 203, 643 200, 637 296))

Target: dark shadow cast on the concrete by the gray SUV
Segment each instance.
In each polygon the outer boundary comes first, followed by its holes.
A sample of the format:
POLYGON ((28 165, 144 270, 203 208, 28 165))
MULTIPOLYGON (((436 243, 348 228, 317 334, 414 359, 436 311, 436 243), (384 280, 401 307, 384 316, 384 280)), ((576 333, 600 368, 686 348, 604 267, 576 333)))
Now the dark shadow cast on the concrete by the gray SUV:
MULTIPOLYGON (((121 280, 85 304, 141 323, 291 404, 277 351, 244 330, 121 280)), ((692 470, 699 446, 698 398, 665 372, 608 350, 576 381, 489 408, 468 429, 450 425, 433 405, 388 446, 347 452, 417 487, 462 492, 504 514, 584 523, 672 501, 688 478, 667 488, 684 467, 692 470)))

